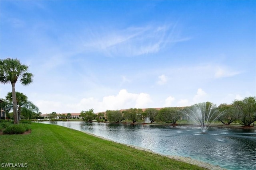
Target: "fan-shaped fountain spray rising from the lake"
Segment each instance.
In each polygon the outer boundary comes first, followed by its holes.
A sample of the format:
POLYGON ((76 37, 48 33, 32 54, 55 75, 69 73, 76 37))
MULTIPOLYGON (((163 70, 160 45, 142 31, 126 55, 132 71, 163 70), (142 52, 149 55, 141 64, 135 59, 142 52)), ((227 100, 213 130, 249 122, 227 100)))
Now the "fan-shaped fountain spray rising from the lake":
POLYGON ((216 105, 211 102, 194 104, 186 110, 186 113, 201 128, 202 133, 206 133, 210 124, 222 115, 218 112, 216 105))

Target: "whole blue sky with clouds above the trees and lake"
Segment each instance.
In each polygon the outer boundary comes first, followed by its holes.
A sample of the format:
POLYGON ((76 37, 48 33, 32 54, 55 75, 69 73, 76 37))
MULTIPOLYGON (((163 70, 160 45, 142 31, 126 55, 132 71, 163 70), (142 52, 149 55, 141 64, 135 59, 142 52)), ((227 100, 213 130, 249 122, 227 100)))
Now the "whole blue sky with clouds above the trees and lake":
POLYGON ((30 66, 16 91, 42 113, 255 96, 255 32, 254 0, 0 1, 0 57, 30 66))

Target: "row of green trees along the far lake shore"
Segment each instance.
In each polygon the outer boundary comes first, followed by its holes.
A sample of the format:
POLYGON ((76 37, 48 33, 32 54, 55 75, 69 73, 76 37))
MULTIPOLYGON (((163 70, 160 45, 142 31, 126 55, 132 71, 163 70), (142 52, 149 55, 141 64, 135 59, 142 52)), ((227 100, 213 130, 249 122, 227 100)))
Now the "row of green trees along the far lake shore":
MULTIPOLYGON (((89 111, 81 111, 81 116, 85 121, 98 120, 104 117, 109 122, 145 121, 146 119, 153 122, 172 123, 186 119, 190 120, 190 112, 193 110, 194 104, 189 107, 165 107, 160 110, 155 108, 148 108, 145 111, 138 108, 130 108, 124 111, 120 110, 106 110, 106 112, 94 114, 93 109, 89 111)), ((203 111, 203 121, 220 121, 223 124, 229 125, 233 122, 238 122, 244 126, 250 126, 256 121, 256 97, 246 97, 243 100, 234 100, 231 105, 220 104, 216 106, 212 102, 206 102, 205 108, 200 108, 203 111), (208 114, 211 114, 208 116, 208 114), (206 119, 207 117, 207 119, 206 119)))

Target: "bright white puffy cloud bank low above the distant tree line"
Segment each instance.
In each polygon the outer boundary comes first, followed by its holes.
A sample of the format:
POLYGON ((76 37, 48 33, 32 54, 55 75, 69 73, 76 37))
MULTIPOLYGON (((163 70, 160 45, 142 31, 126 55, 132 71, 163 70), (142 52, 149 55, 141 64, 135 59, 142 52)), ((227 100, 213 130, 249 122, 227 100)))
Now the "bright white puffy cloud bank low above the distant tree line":
POLYGON ((62 100, 62 102, 52 101, 38 101, 35 104, 40 108, 40 111, 44 113, 80 113, 82 110, 94 109, 94 112, 116 110, 116 109, 129 109, 129 108, 147 108, 152 103, 149 94, 146 93, 129 93, 126 89, 122 89, 114 96, 105 96, 102 101, 96 98, 82 98, 79 102, 75 103, 72 100, 62 100))

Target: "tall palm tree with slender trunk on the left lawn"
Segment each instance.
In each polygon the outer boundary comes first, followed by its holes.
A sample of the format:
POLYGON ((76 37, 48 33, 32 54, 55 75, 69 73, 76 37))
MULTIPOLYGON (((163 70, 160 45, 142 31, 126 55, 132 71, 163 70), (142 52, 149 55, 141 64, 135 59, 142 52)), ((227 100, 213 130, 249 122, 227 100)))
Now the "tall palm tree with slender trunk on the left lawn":
POLYGON ((33 74, 28 71, 28 67, 26 64, 20 63, 18 59, 0 59, 0 83, 12 84, 12 102, 13 102, 13 115, 14 115, 14 123, 18 124, 18 109, 17 109, 17 99, 15 92, 15 84, 20 79, 20 83, 22 85, 28 85, 32 83, 33 74))

